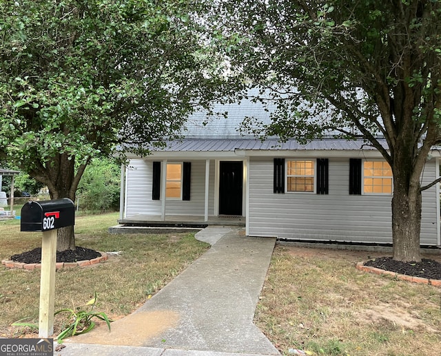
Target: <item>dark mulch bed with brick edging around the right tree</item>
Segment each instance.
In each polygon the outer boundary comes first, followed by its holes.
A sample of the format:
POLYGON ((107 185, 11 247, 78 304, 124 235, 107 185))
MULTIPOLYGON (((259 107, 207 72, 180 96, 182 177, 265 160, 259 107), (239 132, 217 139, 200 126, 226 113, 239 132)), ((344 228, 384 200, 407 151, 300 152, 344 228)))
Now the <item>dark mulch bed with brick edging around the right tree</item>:
POLYGON ((441 280, 441 263, 426 258, 423 258, 421 262, 400 262, 392 260, 391 257, 380 257, 366 262, 365 266, 372 266, 402 275, 441 280))

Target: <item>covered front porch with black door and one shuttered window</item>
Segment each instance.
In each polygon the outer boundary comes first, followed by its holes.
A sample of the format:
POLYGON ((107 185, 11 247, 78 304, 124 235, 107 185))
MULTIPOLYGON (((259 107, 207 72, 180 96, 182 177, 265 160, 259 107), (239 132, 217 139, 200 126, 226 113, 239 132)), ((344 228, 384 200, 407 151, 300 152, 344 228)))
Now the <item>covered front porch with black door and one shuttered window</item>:
POLYGON ((131 159, 121 169, 118 222, 126 227, 245 227, 246 177, 247 159, 231 151, 212 156, 155 152, 131 159))

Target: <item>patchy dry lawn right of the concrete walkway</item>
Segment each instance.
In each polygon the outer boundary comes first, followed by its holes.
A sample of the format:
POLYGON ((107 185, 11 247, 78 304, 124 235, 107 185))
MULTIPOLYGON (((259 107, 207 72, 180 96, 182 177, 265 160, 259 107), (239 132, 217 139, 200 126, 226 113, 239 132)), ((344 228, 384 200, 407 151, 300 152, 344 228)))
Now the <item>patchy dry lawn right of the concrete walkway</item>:
POLYGON ((276 247, 256 324, 285 355, 440 355, 441 288, 355 268, 385 254, 276 247))

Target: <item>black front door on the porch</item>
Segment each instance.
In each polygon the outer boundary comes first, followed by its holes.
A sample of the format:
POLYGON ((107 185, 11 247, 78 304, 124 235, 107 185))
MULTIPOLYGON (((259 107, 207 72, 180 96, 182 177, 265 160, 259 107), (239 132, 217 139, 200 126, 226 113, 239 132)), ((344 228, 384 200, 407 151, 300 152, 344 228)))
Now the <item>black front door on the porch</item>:
POLYGON ((219 214, 242 216, 242 162, 220 162, 219 214))

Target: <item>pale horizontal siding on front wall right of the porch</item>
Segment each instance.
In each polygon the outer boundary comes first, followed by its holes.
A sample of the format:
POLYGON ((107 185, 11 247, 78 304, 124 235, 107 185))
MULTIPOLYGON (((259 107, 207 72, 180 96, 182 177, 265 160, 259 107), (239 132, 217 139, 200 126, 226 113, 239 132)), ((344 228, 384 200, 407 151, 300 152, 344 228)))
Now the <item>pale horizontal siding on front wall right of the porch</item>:
MULTIPOLYGON (((433 160, 435 161, 435 160, 433 160)), ((435 165, 424 170, 428 182, 435 165)), ((329 158, 329 194, 274 194, 274 163, 249 160, 249 235, 390 243, 391 196, 349 195, 349 159, 329 158)), ((435 191, 423 193, 422 244, 436 244, 435 191)))

